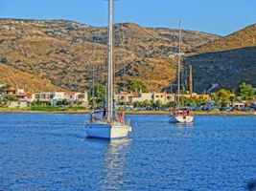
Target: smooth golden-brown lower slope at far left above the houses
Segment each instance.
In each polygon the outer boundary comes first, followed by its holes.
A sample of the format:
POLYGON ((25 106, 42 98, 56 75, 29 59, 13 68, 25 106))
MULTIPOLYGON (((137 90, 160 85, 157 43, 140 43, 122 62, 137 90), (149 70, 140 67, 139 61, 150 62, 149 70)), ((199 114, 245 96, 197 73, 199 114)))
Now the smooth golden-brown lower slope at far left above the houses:
POLYGON ((23 88, 25 91, 62 91, 63 89, 40 79, 32 74, 13 69, 11 66, 0 64, 0 84, 10 84, 15 88, 23 88))

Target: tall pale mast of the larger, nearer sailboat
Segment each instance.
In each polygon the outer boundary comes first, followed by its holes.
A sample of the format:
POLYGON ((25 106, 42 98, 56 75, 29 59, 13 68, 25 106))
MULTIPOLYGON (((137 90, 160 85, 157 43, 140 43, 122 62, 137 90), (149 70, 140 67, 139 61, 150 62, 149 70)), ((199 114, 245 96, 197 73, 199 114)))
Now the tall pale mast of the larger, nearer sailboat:
POLYGON ((113 107, 113 0, 108 1, 108 65, 107 65, 107 119, 112 118, 113 107))

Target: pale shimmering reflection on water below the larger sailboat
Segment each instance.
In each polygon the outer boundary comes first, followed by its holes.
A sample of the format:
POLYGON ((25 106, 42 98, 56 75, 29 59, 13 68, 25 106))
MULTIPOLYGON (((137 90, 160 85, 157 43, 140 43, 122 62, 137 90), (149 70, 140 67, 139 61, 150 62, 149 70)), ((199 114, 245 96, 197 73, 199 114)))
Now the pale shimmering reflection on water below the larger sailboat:
POLYGON ((123 172, 127 164, 126 156, 131 139, 112 140, 105 152, 105 179, 103 190, 121 190, 124 183, 123 172))

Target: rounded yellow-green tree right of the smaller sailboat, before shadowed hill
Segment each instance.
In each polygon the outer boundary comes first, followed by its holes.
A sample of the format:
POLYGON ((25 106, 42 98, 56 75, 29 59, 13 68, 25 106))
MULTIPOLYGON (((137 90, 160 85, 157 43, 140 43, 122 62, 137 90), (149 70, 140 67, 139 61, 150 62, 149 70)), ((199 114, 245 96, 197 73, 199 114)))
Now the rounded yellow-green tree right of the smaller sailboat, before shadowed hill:
POLYGON ((212 94, 213 99, 221 105, 221 107, 226 107, 227 104, 230 103, 230 96, 231 93, 229 90, 221 89, 217 91, 216 93, 212 94))

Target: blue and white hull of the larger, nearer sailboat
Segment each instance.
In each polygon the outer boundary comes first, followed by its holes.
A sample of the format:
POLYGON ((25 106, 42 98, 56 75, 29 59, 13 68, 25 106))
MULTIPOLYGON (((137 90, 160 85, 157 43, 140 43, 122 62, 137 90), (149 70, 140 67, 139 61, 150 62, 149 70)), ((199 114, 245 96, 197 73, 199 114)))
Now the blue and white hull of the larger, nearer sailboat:
POLYGON ((122 123, 89 123, 85 125, 87 138, 118 139, 127 138, 131 127, 122 123))

